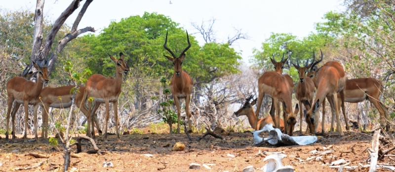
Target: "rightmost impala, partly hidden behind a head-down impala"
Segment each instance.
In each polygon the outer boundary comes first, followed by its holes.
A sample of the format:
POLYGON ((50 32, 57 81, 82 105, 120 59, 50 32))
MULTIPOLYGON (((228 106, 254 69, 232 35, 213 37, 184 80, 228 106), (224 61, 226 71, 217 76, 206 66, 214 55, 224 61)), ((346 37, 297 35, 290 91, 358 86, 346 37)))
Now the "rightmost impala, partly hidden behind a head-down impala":
MULTIPOLYGON (((317 69, 313 69, 310 73, 310 77, 316 81, 317 69)), ((387 128, 389 130, 389 126, 385 125, 388 117, 388 109, 381 103, 380 97, 383 92, 383 86, 380 80, 374 78, 356 78, 356 79, 346 79, 346 88, 345 88, 345 99, 344 102, 348 103, 359 103, 364 100, 368 100, 372 103, 380 113, 380 125, 383 128, 387 128)), ((340 110, 341 99, 340 94, 338 96, 338 109, 340 110)), ((332 120, 333 121, 333 120, 332 120)))

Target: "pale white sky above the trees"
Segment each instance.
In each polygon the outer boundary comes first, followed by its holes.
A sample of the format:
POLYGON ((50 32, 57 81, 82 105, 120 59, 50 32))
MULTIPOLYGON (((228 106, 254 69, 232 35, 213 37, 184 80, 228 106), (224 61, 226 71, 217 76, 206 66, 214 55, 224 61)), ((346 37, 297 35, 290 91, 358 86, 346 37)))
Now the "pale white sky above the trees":
MULTIPOLYGON (((7 10, 28 9, 32 12, 37 0, 0 0, 0 8, 7 10)), ((80 8, 85 1, 80 2, 80 8)), ((344 11, 343 0, 93 0, 83 16, 79 29, 87 26, 98 30, 107 27, 111 21, 120 21, 132 15, 157 12, 169 16, 174 22, 188 30, 197 31, 191 22, 200 24, 203 20, 215 18, 214 30, 217 42, 225 42, 228 35, 235 34, 234 28, 242 29, 249 40, 238 40, 233 44, 244 63, 251 58, 252 49, 260 48, 262 42, 273 33, 291 33, 304 37, 314 32, 317 22, 323 22, 328 11, 344 11)), ((44 17, 55 21, 71 0, 46 0, 44 17)), ((77 9, 66 21, 72 26, 77 9)), ((33 35, 33 33, 32 33, 33 35)), ((204 43, 195 34, 199 44, 204 43)))

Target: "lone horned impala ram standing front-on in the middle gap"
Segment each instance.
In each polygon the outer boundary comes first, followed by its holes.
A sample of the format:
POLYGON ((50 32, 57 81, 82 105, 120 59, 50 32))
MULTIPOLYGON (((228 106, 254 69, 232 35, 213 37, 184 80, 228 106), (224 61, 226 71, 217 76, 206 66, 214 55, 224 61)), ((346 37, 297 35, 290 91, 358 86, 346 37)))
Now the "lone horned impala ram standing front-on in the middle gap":
POLYGON ((192 114, 189 109, 189 102, 191 101, 191 94, 192 90, 194 88, 194 81, 192 81, 191 77, 188 75, 187 72, 182 70, 182 61, 185 59, 185 52, 191 47, 191 43, 189 42, 189 36, 187 32, 187 41, 188 41, 188 46, 185 48, 181 53, 178 58, 174 53, 166 46, 167 43, 167 33, 166 33, 166 39, 164 41, 163 47, 171 54, 172 57, 169 56, 164 56, 166 57, 169 61, 173 62, 174 65, 174 74, 173 77, 171 78, 170 82, 170 91, 171 94, 174 97, 174 102, 176 103, 177 106, 177 132, 180 133, 180 121, 181 121, 181 107, 180 107, 180 99, 185 99, 185 112, 188 117, 188 127, 190 130, 192 130, 192 125, 191 125, 191 117, 192 114))

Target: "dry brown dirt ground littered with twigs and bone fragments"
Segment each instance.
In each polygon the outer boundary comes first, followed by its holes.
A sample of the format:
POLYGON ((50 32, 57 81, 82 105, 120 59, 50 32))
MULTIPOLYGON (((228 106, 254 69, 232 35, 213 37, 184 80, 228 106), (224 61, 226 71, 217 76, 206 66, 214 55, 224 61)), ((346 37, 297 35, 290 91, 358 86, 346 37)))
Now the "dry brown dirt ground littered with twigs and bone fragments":
MULTIPOLYGON (((202 134, 191 134, 193 139, 202 134)), ((17 136, 22 137, 21 135, 17 136)), ((32 137, 32 136, 30 136, 32 137)), ((357 166, 358 163, 364 164, 368 158, 366 148, 371 147, 371 136, 345 133, 339 136, 331 133, 326 136, 318 136, 318 141, 312 145, 305 146, 270 146, 252 147, 251 133, 233 133, 230 136, 223 136, 225 139, 217 139, 206 136, 200 141, 190 141, 186 134, 131 134, 121 136, 121 142, 115 142, 116 136, 109 136, 108 142, 103 142, 102 137, 97 140, 97 145, 103 155, 79 153, 82 158, 72 158, 70 169, 77 168, 79 172, 241 172, 247 166, 254 166, 256 171, 262 168, 266 162, 263 157, 255 156, 259 150, 276 152, 281 151, 287 155, 282 160, 283 165, 291 165, 295 172, 337 172, 337 169, 321 166, 323 162, 328 163, 331 157, 351 161, 350 166, 357 166), (172 146, 176 142, 186 145, 185 150, 175 152, 172 146), (333 145, 333 146, 330 146, 333 145), (312 150, 322 151, 323 147, 331 147, 333 153, 323 156, 322 161, 315 159, 307 161, 313 157, 312 150), (152 154, 147 157, 143 154, 152 154), (230 157, 228 154, 235 155, 230 157), (305 161, 299 161, 305 160, 305 161), (113 168, 103 167, 104 161, 111 161, 113 168), (200 170, 189 169, 189 164, 198 163, 200 170), (203 164, 211 165, 211 169, 206 169, 203 164)), ((39 143, 24 143, 21 139, 16 139, 6 143, 4 136, 0 139, 0 167, 1 172, 16 171, 15 168, 31 167, 43 162, 40 167, 25 171, 61 171, 63 164, 63 149, 59 144, 58 148, 49 145, 48 139, 40 139, 39 143), (60 151, 58 150, 60 149, 60 151), (26 155, 27 153, 40 153, 49 158, 34 158, 26 155)), ((72 147, 76 152, 76 146, 72 147)), ((90 143, 82 141, 82 151, 92 150, 90 143)), ((334 159, 333 159, 334 160, 334 159)), ((390 162, 379 162, 390 163, 390 162)), ((393 162, 391 162, 393 163, 393 162)), ((23 170, 22 170, 23 171, 23 170)), ((356 169, 355 171, 367 172, 368 169, 356 169)))

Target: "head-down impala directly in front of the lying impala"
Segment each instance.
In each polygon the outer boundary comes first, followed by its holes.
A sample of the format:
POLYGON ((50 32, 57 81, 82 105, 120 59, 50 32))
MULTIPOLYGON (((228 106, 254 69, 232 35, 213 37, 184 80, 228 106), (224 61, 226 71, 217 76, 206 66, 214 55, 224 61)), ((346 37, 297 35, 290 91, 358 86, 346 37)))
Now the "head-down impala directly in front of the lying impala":
MULTIPOLYGON (((285 103, 285 112, 288 114, 286 116, 283 114, 284 119, 284 134, 288 134, 292 136, 293 128, 296 124, 296 116, 294 112, 292 112, 292 103, 291 103, 291 89, 289 88, 289 84, 285 76, 275 72, 275 71, 267 71, 263 73, 263 75, 258 80, 258 108, 256 109, 256 118, 259 116, 259 110, 261 108, 262 100, 265 95, 273 98, 273 102, 275 102, 275 109, 278 109, 277 118, 280 118, 280 107, 278 101, 285 103), (285 122, 286 121, 286 122, 285 122)), ((295 113, 297 113, 299 109, 295 109, 295 113)), ((280 121, 276 120, 275 114, 272 115, 272 119, 276 124, 276 128, 280 126, 280 121)), ((257 122, 255 126, 257 126, 257 122)))

